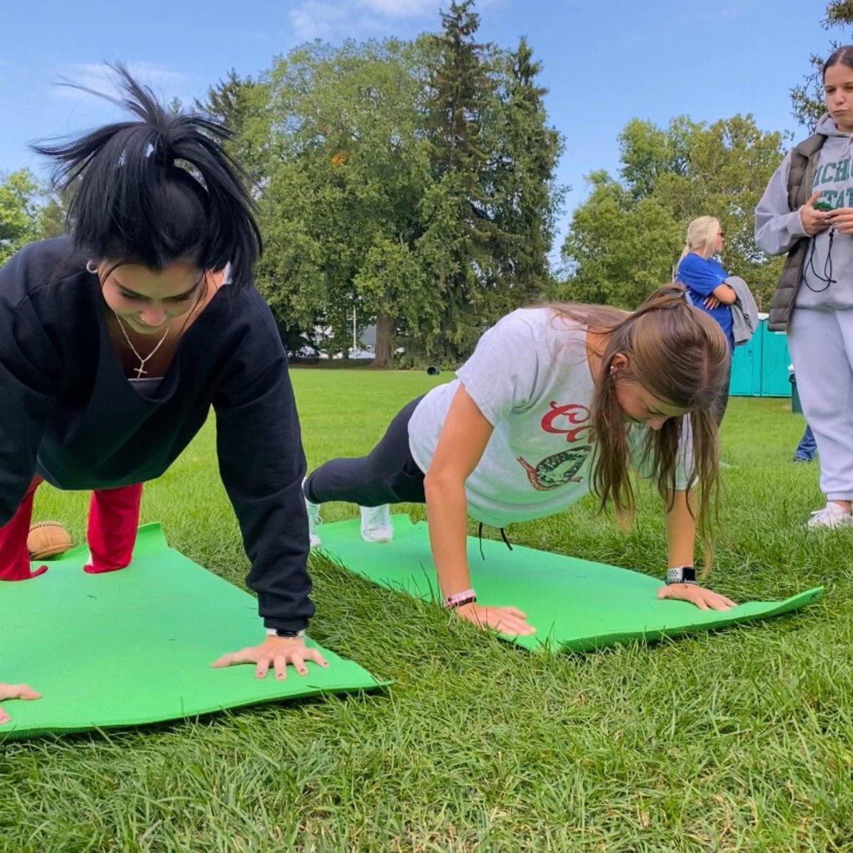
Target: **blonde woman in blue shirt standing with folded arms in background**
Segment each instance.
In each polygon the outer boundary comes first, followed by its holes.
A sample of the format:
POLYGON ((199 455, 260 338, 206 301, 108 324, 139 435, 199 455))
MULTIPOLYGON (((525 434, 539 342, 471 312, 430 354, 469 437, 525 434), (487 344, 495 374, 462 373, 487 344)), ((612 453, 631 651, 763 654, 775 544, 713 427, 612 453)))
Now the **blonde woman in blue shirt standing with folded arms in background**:
MULTIPOLYGON (((734 351, 731 305, 737 298, 726 284, 728 273, 714 256, 722 252, 726 234, 717 219, 700 216, 688 225, 684 251, 676 264, 676 281, 687 288, 688 299, 699 310, 710 314, 719 323, 728 339, 729 351, 734 351)), ((730 366, 729 366, 730 369, 730 366)), ((720 395, 717 424, 722 421, 728 405, 728 384, 720 395)))

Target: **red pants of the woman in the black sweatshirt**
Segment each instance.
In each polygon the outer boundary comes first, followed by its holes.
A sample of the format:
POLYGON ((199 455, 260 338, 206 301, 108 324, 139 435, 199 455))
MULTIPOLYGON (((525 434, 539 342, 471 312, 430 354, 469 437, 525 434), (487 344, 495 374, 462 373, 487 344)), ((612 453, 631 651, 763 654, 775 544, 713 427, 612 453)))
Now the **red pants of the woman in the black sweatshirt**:
MULTIPOLYGON (((39 566, 35 572, 30 572, 30 554, 26 550, 26 537, 32 523, 32 499, 42 482, 44 480, 38 476, 32 479, 15 515, 0 527, 0 581, 23 581, 48 570, 47 566, 39 566)), ((90 559, 83 567, 84 572, 114 572, 130 563, 141 501, 141 483, 92 492, 86 530, 90 559)))

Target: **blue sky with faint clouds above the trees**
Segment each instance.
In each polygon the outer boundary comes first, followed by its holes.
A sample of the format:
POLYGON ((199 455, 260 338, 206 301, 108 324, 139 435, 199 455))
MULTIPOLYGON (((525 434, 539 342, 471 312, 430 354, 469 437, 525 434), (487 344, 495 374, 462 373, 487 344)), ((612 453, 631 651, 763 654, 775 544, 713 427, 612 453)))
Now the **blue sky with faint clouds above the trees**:
MULTIPOLYGON (((409 38, 438 28, 439 0, 32 0, 3 3, 0 172, 44 165, 27 142, 116 118, 112 107, 55 85, 107 87, 102 62, 124 61, 164 96, 191 102, 231 67, 257 75, 308 39, 409 38), (242 7, 242 8, 241 8, 242 7), (205 9, 200 14, 200 9, 205 9)), ((567 218, 584 176, 618 169, 618 132, 633 118, 665 125, 752 113, 763 130, 802 134, 788 90, 830 38, 825 0, 480 0, 480 36, 525 35, 543 62, 551 123, 565 136, 559 179, 567 218)), ((558 241, 559 246, 559 241, 558 241)))

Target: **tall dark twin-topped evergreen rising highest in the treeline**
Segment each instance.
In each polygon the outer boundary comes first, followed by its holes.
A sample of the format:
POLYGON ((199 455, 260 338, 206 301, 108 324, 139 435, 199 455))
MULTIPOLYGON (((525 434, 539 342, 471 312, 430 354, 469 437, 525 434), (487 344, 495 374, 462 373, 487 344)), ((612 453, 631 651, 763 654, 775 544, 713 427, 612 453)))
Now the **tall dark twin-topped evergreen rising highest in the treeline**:
POLYGON ((420 248, 444 314, 440 334, 415 348, 454 363, 485 326, 550 286, 560 136, 547 125, 541 69, 524 40, 510 53, 479 43, 473 0, 452 3, 442 25, 427 38, 435 185, 420 248))

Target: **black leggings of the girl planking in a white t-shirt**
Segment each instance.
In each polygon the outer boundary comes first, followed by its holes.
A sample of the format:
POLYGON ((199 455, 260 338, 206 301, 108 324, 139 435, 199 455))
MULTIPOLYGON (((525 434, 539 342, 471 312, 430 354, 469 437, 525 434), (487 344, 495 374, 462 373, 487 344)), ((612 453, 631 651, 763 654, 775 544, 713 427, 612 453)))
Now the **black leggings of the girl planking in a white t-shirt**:
POLYGON ((330 459, 312 471, 305 480, 305 497, 313 503, 349 501, 362 507, 426 503, 424 472, 409 450, 409 420, 421 399, 400 409, 367 456, 330 459))

